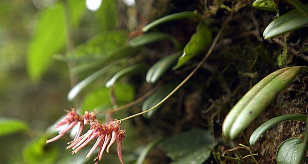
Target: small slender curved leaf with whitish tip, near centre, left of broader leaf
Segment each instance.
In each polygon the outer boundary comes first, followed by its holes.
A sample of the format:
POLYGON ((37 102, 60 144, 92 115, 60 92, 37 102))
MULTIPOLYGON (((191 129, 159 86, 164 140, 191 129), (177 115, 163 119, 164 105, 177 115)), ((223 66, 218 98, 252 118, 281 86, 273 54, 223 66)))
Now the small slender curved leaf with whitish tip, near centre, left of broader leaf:
POLYGON ((122 78, 122 77, 124 77, 128 74, 136 74, 137 72, 140 72, 140 70, 142 70, 142 69, 143 69, 143 67, 140 64, 124 68, 124 69, 120 70, 119 72, 117 72, 117 74, 115 74, 110 80, 108 80, 108 82, 106 83, 106 87, 109 88, 115 82, 117 82, 118 79, 120 79, 120 78, 122 78))

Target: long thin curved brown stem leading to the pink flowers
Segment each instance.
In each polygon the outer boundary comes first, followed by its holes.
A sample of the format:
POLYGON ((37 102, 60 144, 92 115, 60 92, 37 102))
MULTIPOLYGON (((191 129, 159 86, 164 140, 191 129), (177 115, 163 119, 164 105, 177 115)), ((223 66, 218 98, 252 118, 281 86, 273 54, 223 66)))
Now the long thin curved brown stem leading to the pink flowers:
POLYGON ((213 40, 212 44, 210 45, 207 53, 205 54, 205 56, 203 57, 203 59, 198 63, 198 65, 195 67, 194 70, 192 70, 190 72, 190 74, 174 89, 172 90, 163 100, 161 100, 159 103, 157 103, 155 106, 149 108, 148 110, 146 111, 143 111, 143 112, 140 112, 140 113, 137 113, 137 114, 134 114, 134 115, 131 115, 131 116, 128 116, 128 117, 125 117, 125 118, 122 118, 120 119, 119 121, 125 121, 125 120, 128 120, 130 118, 133 118, 133 117, 136 117, 136 116, 140 116, 140 115, 143 115, 147 112, 150 112, 152 110, 154 110, 155 108, 157 108, 159 105, 161 105, 162 103, 164 103, 168 98, 170 98, 174 93, 177 92, 177 90, 180 89, 181 86, 183 86, 189 79, 192 75, 194 75, 196 73, 196 71, 201 67, 201 65, 206 61, 206 59, 209 57, 209 55, 211 54, 211 52, 213 51, 222 31, 224 30, 224 28, 226 27, 226 25, 229 23, 229 21, 232 19, 232 14, 230 14, 230 16, 228 17, 228 19, 223 23, 223 25, 221 26, 221 28, 219 29, 215 39, 213 40))

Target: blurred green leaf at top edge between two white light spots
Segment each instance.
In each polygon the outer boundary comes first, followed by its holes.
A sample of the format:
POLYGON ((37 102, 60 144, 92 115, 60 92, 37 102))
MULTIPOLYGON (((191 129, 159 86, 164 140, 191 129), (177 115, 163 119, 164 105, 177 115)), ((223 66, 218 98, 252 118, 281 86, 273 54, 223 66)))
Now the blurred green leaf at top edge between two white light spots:
POLYGON ((104 0, 100 9, 95 13, 101 31, 114 30, 117 23, 117 1, 104 0))

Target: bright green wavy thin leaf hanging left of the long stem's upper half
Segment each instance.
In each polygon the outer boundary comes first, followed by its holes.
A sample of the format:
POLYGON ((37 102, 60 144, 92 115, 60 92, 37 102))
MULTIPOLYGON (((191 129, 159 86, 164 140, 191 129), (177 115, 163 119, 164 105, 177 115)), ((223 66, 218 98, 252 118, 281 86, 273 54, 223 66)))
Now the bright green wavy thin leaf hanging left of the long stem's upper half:
POLYGON ((190 41, 186 44, 182 56, 174 69, 183 66, 191 58, 201 53, 211 43, 211 31, 205 22, 200 22, 197 26, 196 33, 192 34, 190 41))

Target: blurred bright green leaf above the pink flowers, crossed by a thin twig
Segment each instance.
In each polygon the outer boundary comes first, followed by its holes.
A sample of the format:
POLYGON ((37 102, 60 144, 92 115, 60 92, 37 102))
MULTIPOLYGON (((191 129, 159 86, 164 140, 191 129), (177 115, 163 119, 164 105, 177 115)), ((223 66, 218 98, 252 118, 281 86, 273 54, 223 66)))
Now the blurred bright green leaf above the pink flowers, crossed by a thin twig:
MULTIPOLYGON (((114 95, 119 104, 133 101, 135 92, 132 85, 115 83, 114 95)), ((87 94, 82 102, 82 112, 93 111, 99 106, 111 107, 109 88, 102 87, 87 94)))

